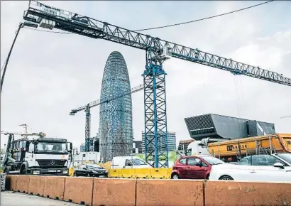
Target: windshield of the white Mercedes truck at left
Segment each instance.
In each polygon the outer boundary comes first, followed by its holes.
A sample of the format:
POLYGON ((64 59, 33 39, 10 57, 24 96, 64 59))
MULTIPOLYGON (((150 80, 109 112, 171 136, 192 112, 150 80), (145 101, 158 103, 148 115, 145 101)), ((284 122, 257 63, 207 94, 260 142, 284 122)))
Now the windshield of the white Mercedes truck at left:
POLYGON ((67 153, 66 143, 38 142, 35 153, 67 153))

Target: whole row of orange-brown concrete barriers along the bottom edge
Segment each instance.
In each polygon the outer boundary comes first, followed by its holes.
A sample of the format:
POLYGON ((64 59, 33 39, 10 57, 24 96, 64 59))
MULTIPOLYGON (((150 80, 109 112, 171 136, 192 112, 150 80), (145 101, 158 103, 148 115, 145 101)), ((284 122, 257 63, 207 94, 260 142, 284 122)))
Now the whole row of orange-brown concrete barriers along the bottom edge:
POLYGON ((291 183, 7 175, 6 188, 82 205, 291 205, 291 183))

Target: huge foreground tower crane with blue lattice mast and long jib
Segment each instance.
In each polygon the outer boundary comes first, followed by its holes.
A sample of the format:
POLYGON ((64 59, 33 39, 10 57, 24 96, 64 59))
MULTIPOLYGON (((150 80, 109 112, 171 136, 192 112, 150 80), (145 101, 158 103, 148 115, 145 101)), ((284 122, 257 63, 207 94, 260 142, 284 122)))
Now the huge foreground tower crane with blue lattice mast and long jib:
POLYGON ((30 1, 23 19, 42 28, 57 28, 89 38, 109 40, 146 51, 143 72, 145 107, 145 156, 155 168, 168 167, 168 130, 163 63, 170 57, 226 70, 234 75, 246 75, 268 82, 291 86, 291 79, 277 72, 263 70, 237 61, 205 53, 160 38, 114 26, 77 13, 30 1), (165 160, 163 163, 160 160, 165 160))

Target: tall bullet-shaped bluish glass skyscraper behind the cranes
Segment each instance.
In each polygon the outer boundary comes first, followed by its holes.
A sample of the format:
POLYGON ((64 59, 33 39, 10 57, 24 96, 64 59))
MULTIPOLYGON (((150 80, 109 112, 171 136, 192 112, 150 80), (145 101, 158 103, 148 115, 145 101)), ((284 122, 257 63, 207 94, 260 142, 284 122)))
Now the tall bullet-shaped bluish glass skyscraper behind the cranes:
POLYGON ((112 52, 104 68, 100 101, 116 98, 100 105, 100 160, 129 156, 133 147, 131 83, 123 55, 112 52))

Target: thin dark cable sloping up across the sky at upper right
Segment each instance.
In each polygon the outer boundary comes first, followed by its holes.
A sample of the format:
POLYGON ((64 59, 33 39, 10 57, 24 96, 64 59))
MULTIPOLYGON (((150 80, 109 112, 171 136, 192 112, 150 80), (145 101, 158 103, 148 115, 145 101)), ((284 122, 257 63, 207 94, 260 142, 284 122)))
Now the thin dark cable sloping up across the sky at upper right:
MULTIPOLYGON (((271 1, 274 1, 274 0, 271 0, 271 1)), ((215 18, 215 17, 218 17, 218 16, 225 16, 225 15, 230 14, 230 13, 236 13, 238 11, 243 11, 243 10, 246 10, 246 9, 251 9, 253 7, 256 7, 256 6, 260 6, 260 5, 263 5, 263 4, 268 4, 271 1, 265 1, 263 3, 256 4, 256 5, 253 5, 253 6, 248 6, 248 7, 243 8, 243 9, 238 9, 238 10, 235 10, 235 11, 229 11, 227 13, 221 13, 221 14, 218 14, 218 15, 215 15, 215 16, 209 16, 209 17, 205 17, 205 18, 199 18, 197 20, 186 21, 186 22, 182 22, 182 23, 174 23, 174 24, 170 24, 170 25, 167 25, 167 26, 157 26, 157 27, 152 27, 152 28, 143 28, 143 29, 138 29, 138 30, 135 30, 135 31, 148 31, 148 30, 153 30, 153 29, 157 29, 157 28, 166 28, 166 27, 171 27, 171 26, 179 26, 179 25, 186 24, 186 23, 193 23, 193 22, 197 22, 197 21, 203 21, 203 20, 206 20, 206 19, 209 19, 209 18, 215 18)))

